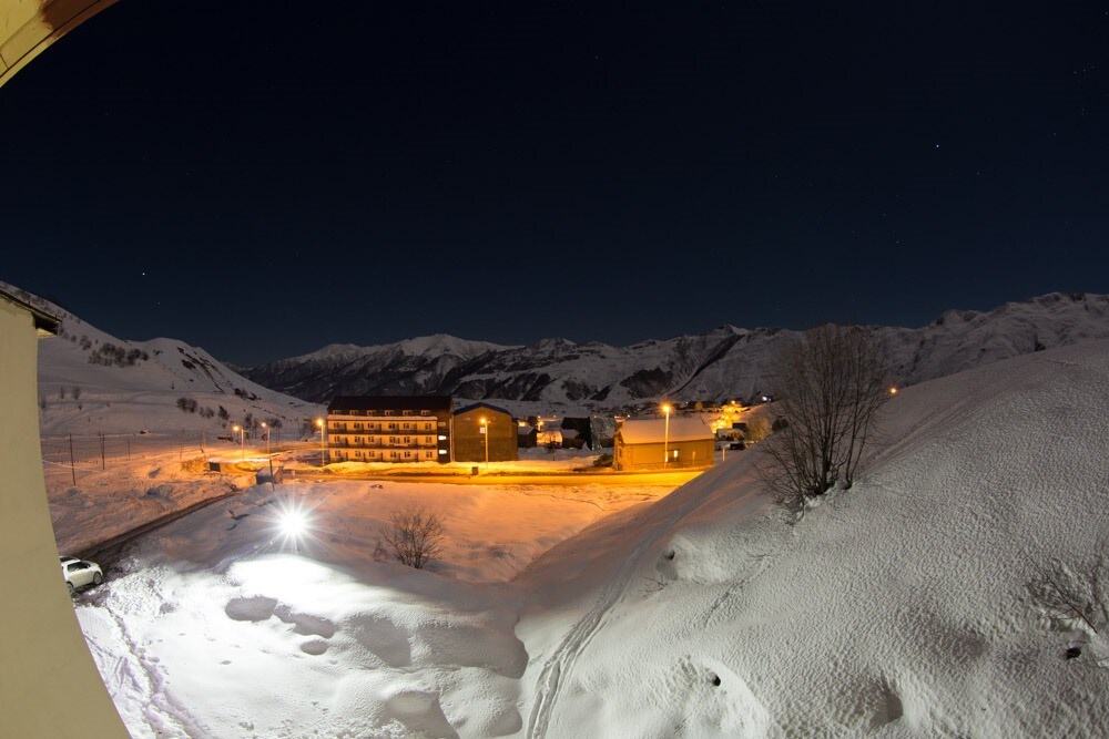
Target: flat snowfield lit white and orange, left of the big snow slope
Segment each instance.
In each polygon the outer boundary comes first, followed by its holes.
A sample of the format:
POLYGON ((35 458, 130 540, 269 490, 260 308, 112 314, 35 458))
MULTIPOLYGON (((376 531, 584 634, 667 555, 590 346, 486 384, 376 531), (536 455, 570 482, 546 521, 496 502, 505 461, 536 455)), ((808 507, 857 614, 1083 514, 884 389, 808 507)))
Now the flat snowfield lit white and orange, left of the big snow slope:
POLYGON ((78 616, 136 737, 502 736, 528 654, 501 583, 670 490, 256 486, 147 537, 78 616), (414 503, 445 519, 429 572, 375 562, 379 525, 414 503), (277 527, 293 507, 313 522, 295 546, 277 527))

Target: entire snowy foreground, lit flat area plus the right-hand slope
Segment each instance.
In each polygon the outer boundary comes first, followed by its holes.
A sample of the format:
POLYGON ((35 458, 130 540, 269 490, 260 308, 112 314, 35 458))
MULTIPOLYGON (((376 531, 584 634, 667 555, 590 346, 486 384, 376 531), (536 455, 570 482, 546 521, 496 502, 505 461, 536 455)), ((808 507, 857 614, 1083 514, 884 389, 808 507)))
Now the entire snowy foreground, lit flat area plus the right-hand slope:
POLYGON ((77 608, 135 736, 1100 737, 1107 451, 1109 342, 1086 342, 905 389, 800 522, 757 448, 653 501, 284 486, 317 506, 298 553, 258 487, 77 608), (450 537, 429 572, 372 556, 414 500, 450 537))

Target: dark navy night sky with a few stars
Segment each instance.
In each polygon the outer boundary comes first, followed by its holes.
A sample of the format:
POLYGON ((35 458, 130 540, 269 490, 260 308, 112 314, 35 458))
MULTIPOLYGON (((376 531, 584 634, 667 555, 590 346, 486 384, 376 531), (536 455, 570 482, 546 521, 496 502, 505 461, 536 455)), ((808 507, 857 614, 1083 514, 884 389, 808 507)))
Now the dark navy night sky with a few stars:
POLYGON ((241 365, 1109 292, 1109 3, 304 8, 121 0, 0 88, 0 277, 241 365))

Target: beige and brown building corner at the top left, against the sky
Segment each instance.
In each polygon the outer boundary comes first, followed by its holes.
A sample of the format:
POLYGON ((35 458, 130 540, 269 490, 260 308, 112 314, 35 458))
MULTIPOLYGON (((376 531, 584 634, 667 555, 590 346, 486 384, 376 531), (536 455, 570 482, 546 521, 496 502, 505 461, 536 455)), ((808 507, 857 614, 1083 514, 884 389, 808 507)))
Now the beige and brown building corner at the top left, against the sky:
POLYGON ((0 0, 0 85, 115 0, 0 0))

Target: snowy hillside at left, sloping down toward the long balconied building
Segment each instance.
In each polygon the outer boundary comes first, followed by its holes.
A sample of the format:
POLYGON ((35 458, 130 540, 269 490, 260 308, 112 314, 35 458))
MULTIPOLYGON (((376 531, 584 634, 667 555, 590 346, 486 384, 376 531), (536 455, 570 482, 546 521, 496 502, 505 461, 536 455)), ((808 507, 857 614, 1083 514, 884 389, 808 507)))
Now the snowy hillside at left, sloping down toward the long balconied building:
POLYGON ((295 434, 322 411, 241 377, 199 347, 164 338, 119 339, 49 300, 0 286, 61 318, 59 335, 39 341, 43 435, 222 431, 247 414, 279 420, 295 434))

